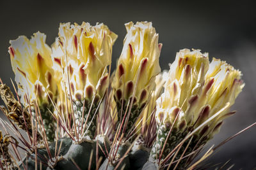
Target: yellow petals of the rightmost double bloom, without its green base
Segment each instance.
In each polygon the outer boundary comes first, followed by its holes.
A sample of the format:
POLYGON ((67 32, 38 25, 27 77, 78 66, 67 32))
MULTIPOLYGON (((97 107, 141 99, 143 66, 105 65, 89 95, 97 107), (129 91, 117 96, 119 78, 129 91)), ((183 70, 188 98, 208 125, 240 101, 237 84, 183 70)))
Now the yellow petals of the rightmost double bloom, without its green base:
POLYGON ((172 125, 179 113, 178 129, 195 128, 230 103, 200 131, 210 132, 209 138, 219 131, 222 120, 234 113, 230 106, 244 87, 240 71, 219 59, 209 64, 208 54, 200 50, 180 50, 168 76, 164 93, 156 101, 159 125, 172 125))

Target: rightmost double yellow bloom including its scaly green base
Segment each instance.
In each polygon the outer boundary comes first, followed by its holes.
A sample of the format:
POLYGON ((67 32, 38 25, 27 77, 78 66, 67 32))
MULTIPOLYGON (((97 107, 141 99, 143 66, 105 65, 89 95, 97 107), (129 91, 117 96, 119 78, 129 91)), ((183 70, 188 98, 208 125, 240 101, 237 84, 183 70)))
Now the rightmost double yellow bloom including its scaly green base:
MULTIPOLYGON (((216 117, 193 133, 190 141, 184 141, 170 162, 179 159, 183 152, 197 150, 220 131, 223 119, 234 114, 230 106, 244 87, 240 71, 220 59, 213 58, 209 64, 207 53, 199 50, 180 50, 168 74, 164 93, 156 101, 158 132, 150 152, 151 161, 159 166, 168 162, 166 158, 171 157, 172 150, 189 132, 213 115, 216 117)), ((186 164, 189 159, 182 159, 179 167, 186 164)))

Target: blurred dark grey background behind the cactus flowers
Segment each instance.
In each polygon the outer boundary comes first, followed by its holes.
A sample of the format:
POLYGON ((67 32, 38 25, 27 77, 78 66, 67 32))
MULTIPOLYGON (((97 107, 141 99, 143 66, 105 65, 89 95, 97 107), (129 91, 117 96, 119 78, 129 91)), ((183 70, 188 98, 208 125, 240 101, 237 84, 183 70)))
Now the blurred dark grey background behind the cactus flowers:
MULTIPOLYGON (((228 118, 209 145, 256 122, 256 12, 253 1, 7 1, 0 2, 0 77, 11 86, 14 80, 8 46, 10 39, 34 32, 47 34, 51 45, 60 22, 104 22, 118 34, 113 47, 113 67, 122 51, 129 21, 152 21, 163 43, 160 65, 168 69, 176 52, 199 48, 210 58, 227 60, 241 70, 246 86, 233 106, 237 113, 228 118)), ((0 104, 3 104, 1 101, 0 104)), ((0 114, 1 117, 3 116, 0 114)), ((235 164, 234 169, 256 167, 256 127, 223 145, 208 162, 235 164)))

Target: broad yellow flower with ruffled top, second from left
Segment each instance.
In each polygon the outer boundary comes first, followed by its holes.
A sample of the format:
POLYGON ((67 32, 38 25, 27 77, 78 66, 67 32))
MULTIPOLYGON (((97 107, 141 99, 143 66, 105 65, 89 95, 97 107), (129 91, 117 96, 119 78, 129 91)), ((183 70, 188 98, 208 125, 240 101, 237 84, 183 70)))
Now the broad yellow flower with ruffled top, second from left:
POLYGON ((106 67, 111 64, 116 34, 104 24, 83 22, 60 24, 59 36, 52 46, 52 58, 60 67, 58 72, 63 73, 63 90, 68 88, 68 73, 73 99, 92 100, 96 90, 100 97, 104 96, 109 80, 106 67))

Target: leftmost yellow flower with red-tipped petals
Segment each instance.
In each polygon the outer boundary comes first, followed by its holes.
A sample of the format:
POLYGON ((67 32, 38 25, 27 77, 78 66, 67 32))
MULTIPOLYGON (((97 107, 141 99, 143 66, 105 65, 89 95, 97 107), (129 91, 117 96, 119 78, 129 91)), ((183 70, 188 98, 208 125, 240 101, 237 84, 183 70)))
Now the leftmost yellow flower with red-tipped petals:
POLYGON ((39 105, 51 103, 49 96, 54 97, 58 93, 53 78, 51 48, 45 44, 45 38, 45 34, 36 32, 30 40, 20 36, 10 41, 12 69, 25 106, 36 99, 39 105))

